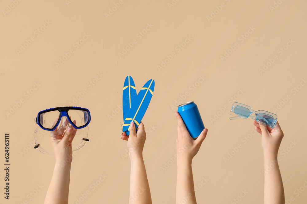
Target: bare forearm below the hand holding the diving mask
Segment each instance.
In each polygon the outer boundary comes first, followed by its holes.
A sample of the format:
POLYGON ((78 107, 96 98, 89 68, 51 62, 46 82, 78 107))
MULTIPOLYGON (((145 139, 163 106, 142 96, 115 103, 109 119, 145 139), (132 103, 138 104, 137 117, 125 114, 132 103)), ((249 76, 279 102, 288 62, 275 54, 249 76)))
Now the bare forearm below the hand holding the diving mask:
POLYGON ((56 163, 44 204, 67 204, 71 164, 56 163))

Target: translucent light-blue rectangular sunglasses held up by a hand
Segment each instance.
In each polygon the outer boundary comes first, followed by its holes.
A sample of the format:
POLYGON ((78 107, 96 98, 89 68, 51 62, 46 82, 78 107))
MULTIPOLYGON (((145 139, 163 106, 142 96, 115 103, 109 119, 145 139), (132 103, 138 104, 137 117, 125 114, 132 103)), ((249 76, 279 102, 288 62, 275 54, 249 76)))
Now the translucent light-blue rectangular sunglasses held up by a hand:
POLYGON ((244 105, 242 103, 234 102, 232 104, 230 114, 234 117, 230 117, 230 120, 234 120, 237 118, 252 118, 257 122, 265 124, 270 128, 274 128, 277 122, 277 115, 274 113, 267 112, 265 110, 255 111, 251 108, 251 106, 244 105), (255 113, 255 116, 252 115, 255 113))

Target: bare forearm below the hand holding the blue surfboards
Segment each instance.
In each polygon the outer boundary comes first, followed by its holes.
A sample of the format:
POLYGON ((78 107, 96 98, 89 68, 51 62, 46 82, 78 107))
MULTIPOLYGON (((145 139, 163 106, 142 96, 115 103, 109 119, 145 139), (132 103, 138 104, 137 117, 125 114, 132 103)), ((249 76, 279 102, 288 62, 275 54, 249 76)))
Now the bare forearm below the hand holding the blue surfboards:
POLYGON ((142 156, 131 158, 129 203, 152 203, 145 164, 142 156))

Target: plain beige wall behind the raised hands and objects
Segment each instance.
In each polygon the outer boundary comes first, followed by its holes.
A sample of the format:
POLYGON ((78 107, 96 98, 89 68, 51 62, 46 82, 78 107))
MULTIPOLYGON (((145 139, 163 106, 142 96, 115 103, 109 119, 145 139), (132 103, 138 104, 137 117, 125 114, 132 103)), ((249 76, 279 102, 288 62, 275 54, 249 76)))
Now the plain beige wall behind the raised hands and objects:
POLYGON ((285 196, 295 198, 291 203, 306 202, 307 189, 298 196, 295 193, 307 180, 307 86, 300 87, 301 79, 307 76, 306 1, 279 0, 280 5, 276 2, 278 7, 272 10, 273 0, 182 0, 172 7, 168 5, 171 0, 123 0, 108 18, 105 13, 119 0, 67 2, 31 0, 17 2, 16 6, 10 0, 0 2, 0 152, 4 154, 4 133, 10 133, 11 163, 9 201, 3 198, 4 176, 0 171, 1 203, 44 201, 55 160, 30 147, 37 127, 33 118, 43 109, 68 106, 84 89, 87 93, 75 105, 91 111, 92 139, 74 156, 69 203, 78 203, 87 190, 91 194, 81 199, 82 204, 128 203, 130 160, 122 158, 127 147, 120 139, 122 111, 118 109, 127 75, 133 77, 137 91, 147 80, 155 80, 154 95, 142 120, 147 131, 144 160, 153 203, 175 202, 177 165, 171 159, 176 153, 177 109, 172 105, 178 100, 193 100, 209 130, 192 164, 194 184, 200 186, 197 201, 231 203, 246 190, 240 203, 263 203, 261 136, 257 133, 243 142, 244 137, 251 136, 253 120, 229 120, 231 97, 255 110, 273 112, 282 105, 275 113, 285 134, 278 153, 285 196), (224 7, 217 12, 216 6, 222 3, 224 7), (10 6, 13 8, 8 9, 10 6), (208 21, 211 12, 217 14, 208 21), (45 20, 51 23, 41 29, 45 20), (147 24, 153 26, 147 27, 140 39, 137 34, 147 24), (250 30, 242 42, 238 38, 249 27, 255 30, 250 30), (23 52, 16 51, 35 36, 37 29, 44 31, 23 52), (82 42, 84 33, 90 36, 82 42), (192 39, 178 52, 176 47, 186 36, 192 39), (118 53, 134 39, 137 43, 120 58, 118 53), (291 39, 294 43, 287 47, 291 39), (83 43, 78 49, 77 42, 83 43), (220 56, 235 43, 239 46, 222 61, 220 56), (280 55, 283 46, 288 49, 280 55), (70 49, 74 53, 57 68, 55 63, 70 49), (159 71, 157 65, 172 52, 176 56, 159 71), (277 59, 261 73, 259 69, 274 55, 277 59), (104 76, 90 88, 87 84, 97 72, 104 76), (206 79, 196 83, 200 76, 206 79), (34 83, 41 86, 26 97, 24 93, 31 91, 34 83), (192 84, 197 88, 190 87, 192 84), (297 86, 301 89, 294 94, 293 87, 297 86), (244 90, 241 96, 236 95, 238 89, 244 90), (283 103, 287 95, 291 98, 283 103), (21 99, 21 106, 7 117, 6 112, 21 99), (226 110, 219 113, 225 105, 226 110), (113 111, 118 113, 109 119, 113 111), (220 116, 211 122, 214 114, 220 116), (155 127, 153 131, 150 125, 155 127), (290 146, 291 142, 296 145, 290 146), (238 144, 242 148, 225 163, 223 157, 238 144), (286 152, 282 152, 284 149, 286 152), (21 156, 22 151, 27 152, 21 156), (162 172, 165 162, 171 165, 162 172), (93 190, 90 185, 100 174, 107 178, 93 190), (204 185, 203 178, 209 179, 204 185), (38 184, 44 187, 37 193, 38 184), (37 194, 33 198, 30 193, 37 194))

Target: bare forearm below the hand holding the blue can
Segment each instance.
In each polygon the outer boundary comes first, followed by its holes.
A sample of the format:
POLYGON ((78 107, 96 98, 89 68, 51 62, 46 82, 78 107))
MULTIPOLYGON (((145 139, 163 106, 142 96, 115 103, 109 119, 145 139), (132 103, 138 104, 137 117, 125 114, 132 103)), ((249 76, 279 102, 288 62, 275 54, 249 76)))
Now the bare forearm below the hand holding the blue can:
POLYGON ((194 181, 192 173, 192 160, 177 161, 176 203, 196 204, 194 181))

